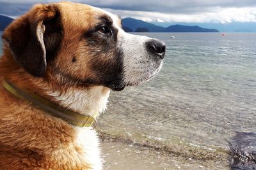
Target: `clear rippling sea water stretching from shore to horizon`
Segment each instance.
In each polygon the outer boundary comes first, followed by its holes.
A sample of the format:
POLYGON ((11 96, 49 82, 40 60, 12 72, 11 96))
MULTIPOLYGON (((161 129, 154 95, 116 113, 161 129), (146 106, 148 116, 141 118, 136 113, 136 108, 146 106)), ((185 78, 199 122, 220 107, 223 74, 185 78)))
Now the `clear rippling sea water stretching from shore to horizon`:
POLYGON ((111 92, 100 133, 205 160, 236 155, 249 136, 256 153, 256 33, 134 34, 166 43, 163 68, 111 92))

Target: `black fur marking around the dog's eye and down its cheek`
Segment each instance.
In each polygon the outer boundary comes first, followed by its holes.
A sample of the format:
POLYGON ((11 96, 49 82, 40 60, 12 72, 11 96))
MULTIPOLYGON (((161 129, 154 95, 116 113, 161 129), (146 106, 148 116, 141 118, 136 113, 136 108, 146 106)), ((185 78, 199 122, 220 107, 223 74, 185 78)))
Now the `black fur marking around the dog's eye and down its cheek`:
POLYGON ((84 82, 90 81, 90 83, 104 85, 113 90, 122 90, 124 89, 124 53, 120 46, 117 46, 118 29, 113 27, 111 18, 104 16, 100 19, 104 22, 85 32, 83 36, 86 45, 90 46, 88 53, 93 55, 91 69, 97 74, 97 80, 84 80, 84 82), (109 33, 102 34, 97 31, 102 24, 108 25, 109 33))

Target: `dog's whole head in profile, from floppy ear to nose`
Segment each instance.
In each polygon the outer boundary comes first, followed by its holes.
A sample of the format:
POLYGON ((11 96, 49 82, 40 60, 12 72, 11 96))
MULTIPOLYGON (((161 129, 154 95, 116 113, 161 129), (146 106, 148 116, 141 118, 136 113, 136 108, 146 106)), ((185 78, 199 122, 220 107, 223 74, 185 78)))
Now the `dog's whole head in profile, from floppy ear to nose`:
POLYGON ((114 90, 156 75, 166 48, 157 39, 127 34, 116 15, 74 3, 34 6, 7 27, 3 39, 33 76, 114 90))

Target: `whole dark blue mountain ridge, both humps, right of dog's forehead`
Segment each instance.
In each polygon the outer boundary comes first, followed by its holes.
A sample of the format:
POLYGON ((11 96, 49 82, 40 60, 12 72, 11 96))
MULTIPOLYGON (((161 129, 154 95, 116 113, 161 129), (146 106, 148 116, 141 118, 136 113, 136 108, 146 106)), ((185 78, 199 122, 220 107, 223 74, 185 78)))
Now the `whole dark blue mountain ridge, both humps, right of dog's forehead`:
POLYGON ((132 31, 136 32, 141 32, 141 28, 147 30, 148 32, 219 32, 217 29, 205 29, 198 26, 188 25, 171 25, 169 27, 161 27, 158 25, 145 22, 143 20, 136 20, 134 18, 124 18, 122 20, 122 23, 123 27, 132 29, 132 31))

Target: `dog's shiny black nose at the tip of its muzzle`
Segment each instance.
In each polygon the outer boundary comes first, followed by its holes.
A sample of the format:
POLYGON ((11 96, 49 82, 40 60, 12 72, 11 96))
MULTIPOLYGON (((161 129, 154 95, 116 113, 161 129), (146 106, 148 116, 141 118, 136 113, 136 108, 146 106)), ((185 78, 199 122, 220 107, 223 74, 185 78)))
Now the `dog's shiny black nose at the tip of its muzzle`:
POLYGON ((162 60, 164 59, 166 46, 163 41, 152 39, 146 43, 146 47, 151 53, 157 55, 162 60))

